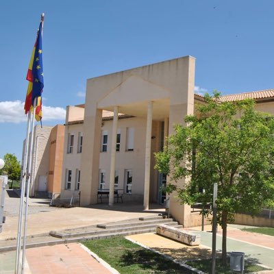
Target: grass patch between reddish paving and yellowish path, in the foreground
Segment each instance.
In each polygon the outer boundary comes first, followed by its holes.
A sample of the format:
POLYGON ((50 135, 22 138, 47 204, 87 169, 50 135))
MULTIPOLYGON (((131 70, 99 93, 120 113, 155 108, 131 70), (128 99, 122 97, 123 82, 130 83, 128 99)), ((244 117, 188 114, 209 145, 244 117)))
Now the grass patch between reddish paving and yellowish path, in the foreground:
POLYGON ((194 273, 123 237, 88 240, 84 245, 121 274, 194 273))

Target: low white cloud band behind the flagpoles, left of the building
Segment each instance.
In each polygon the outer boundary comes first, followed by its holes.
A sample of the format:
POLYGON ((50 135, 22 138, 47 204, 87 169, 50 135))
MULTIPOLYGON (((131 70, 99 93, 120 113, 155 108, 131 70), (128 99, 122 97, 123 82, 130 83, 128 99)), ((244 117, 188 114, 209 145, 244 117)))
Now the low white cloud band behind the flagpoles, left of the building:
MULTIPOLYGON (((0 101, 0 123, 21 123, 27 120, 24 111, 24 102, 0 101)), ((49 107, 42 105, 42 121, 64 120, 66 110, 59 107, 49 107)))

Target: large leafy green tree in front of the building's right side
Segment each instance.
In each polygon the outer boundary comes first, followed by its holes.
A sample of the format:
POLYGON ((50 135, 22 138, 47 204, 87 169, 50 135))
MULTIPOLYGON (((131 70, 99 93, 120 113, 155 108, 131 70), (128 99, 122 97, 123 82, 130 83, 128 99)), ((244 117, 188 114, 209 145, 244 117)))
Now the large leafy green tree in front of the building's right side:
POLYGON ((220 94, 205 96, 197 114, 186 116, 186 126, 175 125, 169 146, 156 153, 156 166, 167 173, 167 192, 177 192, 182 203, 199 201, 201 214, 212 203, 218 184, 217 221, 223 229, 222 261, 227 257, 227 223, 234 214, 256 214, 274 201, 274 119, 256 112, 255 101, 222 102, 220 94), (176 186, 189 177, 184 188, 176 186), (206 190, 205 192, 202 190, 206 190))

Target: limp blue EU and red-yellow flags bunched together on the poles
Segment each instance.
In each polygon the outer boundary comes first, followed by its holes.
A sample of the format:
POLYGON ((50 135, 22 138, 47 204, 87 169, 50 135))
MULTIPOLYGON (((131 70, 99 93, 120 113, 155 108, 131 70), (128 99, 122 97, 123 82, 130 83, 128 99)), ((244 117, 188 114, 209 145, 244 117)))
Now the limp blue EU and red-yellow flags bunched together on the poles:
POLYGON ((36 103, 36 121, 42 119, 42 89, 44 88, 44 73, 42 70, 42 22, 39 25, 36 42, 32 50, 32 58, 29 61, 27 70, 27 95, 25 99, 25 114, 34 109, 34 100, 36 103))

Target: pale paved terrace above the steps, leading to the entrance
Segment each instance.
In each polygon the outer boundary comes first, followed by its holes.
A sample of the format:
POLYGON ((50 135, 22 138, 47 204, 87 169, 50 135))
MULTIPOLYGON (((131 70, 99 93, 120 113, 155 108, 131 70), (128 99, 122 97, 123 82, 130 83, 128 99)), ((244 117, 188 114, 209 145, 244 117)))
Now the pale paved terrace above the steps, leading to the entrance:
MULTIPOLYGON (((27 217, 27 236, 47 234, 53 230, 124 221, 162 212, 164 209, 155 204, 151 204, 150 210, 142 210, 140 203, 114 203, 112 207, 107 204, 97 204, 88 208, 62 208, 52 212, 39 212, 27 217)), ((9 216, 3 224, 0 240, 16 238, 17 227, 18 216, 9 216)))

